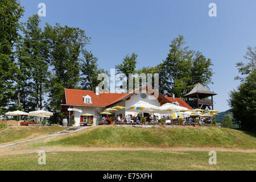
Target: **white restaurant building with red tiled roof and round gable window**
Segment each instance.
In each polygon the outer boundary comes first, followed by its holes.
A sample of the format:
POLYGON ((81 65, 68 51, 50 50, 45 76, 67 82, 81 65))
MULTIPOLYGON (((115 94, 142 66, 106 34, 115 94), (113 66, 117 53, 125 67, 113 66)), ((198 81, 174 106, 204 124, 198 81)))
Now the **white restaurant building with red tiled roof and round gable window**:
MULTIPOLYGON (((162 106, 166 103, 177 102, 178 105, 191 109, 191 107, 181 98, 164 97, 150 86, 144 85, 130 93, 64 89, 61 111, 63 111, 65 115, 70 115, 69 122, 72 121, 72 119, 75 119, 75 125, 79 126, 81 122, 90 121, 92 119, 94 123, 99 122, 101 118, 100 113, 109 107, 118 105, 129 108, 139 101, 145 101, 155 106, 162 106), (146 90, 146 93, 141 93, 143 88, 146 90), (82 116, 84 114, 89 114, 90 116, 82 116)), ((134 110, 121 109, 115 111, 114 114, 121 114, 122 117, 125 117, 126 115, 135 115, 140 113, 137 113, 137 111, 134 110)), ((159 115, 158 117, 160 117, 160 114, 156 113, 155 115, 159 115)))

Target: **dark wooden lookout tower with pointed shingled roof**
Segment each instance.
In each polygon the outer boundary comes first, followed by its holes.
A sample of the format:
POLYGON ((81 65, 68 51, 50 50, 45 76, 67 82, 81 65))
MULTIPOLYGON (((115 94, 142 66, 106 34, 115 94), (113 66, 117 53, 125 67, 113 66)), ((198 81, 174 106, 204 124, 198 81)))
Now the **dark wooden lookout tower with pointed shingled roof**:
POLYGON ((185 94, 184 97, 187 97, 186 102, 193 107, 193 109, 206 109, 208 107, 209 110, 213 110, 213 96, 215 95, 217 95, 217 93, 210 92, 210 90, 198 83, 189 93, 185 94), (205 99, 208 97, 211 97, 211 100, 205 99), (189 100, 189 98, 192 100, 189 100))

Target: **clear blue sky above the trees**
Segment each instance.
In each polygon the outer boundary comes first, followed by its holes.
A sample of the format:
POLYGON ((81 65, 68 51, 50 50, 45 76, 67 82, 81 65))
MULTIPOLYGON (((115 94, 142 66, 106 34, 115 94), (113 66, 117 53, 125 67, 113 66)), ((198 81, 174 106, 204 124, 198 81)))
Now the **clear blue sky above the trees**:
POLYGON ((139 55, 137 68, 155 66, 166 58, 171 40, 183 35, 187 46, 212 59, 214 84, 209 86, 218 94, 214 109, 220 111, 229 109, 228 93, 239 84, 235 64, 247 46, 256 46, 255 0, 21 0, 26 9, 22 22, 38 13, 39 3, 47 7, 42 26, 60 23, 85 30, 92 38, 87 49, 108 70, 132 52, 139 55), (217 17, 208 15, 212 2, 217 17))

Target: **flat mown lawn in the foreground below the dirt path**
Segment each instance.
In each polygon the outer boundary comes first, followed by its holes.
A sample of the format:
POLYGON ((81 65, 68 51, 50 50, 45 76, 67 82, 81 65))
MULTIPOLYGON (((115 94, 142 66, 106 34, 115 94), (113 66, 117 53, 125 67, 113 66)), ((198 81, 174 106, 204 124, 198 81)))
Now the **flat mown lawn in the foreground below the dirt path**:
POLYGON ((0 170, 256 170, 256 153, 217 152, 209 165, 208 152, 97 151, 48 152, 46 165, 38 154, 0 156, 0 170))

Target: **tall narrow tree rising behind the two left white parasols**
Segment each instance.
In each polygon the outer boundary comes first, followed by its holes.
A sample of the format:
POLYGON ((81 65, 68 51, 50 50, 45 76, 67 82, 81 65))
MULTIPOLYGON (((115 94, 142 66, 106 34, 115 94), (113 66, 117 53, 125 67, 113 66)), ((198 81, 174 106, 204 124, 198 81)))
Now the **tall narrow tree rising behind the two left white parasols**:
POLYGON ((48 46, 44 39, 42 29, 39 27, 38 15, 28 18, 24 28, 24 49, 28 56, 28 67, 32 80, 32 97, 35 100, 36 109, 43 109, 43 97, 46 93, 48 77, 48 46))

